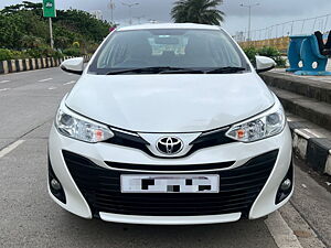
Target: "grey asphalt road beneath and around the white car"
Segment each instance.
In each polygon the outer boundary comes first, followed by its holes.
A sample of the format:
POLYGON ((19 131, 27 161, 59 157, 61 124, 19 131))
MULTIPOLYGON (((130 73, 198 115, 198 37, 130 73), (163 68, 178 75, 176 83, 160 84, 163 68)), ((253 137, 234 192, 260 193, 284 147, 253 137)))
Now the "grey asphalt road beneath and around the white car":
POLYGON ((0 247, 331 247, 331 196, 297 168, 291 203, 267 219, 204 226, 86 220, 46 191, 52 119, 78 76, 58 68, 0 76, 0 247))

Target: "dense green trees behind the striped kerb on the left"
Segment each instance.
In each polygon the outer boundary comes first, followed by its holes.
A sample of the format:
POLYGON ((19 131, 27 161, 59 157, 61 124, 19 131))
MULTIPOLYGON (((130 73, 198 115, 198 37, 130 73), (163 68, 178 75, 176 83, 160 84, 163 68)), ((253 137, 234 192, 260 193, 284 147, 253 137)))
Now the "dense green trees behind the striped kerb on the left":
MULTIPOLYGON (((53 19, 54 47, 76 55, 93 53, 110 26, 82 10, 57 10, 53 19), (74 42, 79 47, 74 47, 74 42)), ((49 20, 43 17, 42 3, 23 1, 0 10, 0 50, 3 57, 58 55, 50 47, 49 20)))

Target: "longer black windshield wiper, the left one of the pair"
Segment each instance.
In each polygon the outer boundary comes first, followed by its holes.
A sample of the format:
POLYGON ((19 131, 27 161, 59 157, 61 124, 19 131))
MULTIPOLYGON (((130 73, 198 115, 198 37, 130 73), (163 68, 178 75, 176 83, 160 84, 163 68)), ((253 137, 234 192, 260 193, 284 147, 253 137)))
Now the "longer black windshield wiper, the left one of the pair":
POLYGON ((171 66, 154 66, 154 67, 141 67, 130 69, 111 71, 107 75, 118 75, 126 73, 157 73, 157 74, 174 74, 174 73, 204 73, 201 69, 171 67, 171 66))

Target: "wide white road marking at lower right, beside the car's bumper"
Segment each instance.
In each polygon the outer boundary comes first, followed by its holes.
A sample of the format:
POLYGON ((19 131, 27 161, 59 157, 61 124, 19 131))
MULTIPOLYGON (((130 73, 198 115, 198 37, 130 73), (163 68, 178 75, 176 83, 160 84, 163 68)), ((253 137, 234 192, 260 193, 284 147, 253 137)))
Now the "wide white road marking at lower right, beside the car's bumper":
POLYGON ((292 229, 287 225, 278 211, 265 220, 276 245, 279 248, 302 248, 292 229))

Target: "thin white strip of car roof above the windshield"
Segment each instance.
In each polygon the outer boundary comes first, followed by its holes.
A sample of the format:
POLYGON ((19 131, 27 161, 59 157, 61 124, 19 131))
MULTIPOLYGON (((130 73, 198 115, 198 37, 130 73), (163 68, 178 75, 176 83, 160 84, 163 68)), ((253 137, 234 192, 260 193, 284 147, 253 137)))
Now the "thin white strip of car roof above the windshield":
POLYGON ((134 31, 134 30, 163 30, 163 29, 200 29, 200 30, 220 30, 218 25, 206 25, 195 23, 146 23, 139 25, 130 25, 117 29, 117 31, 134 31))

